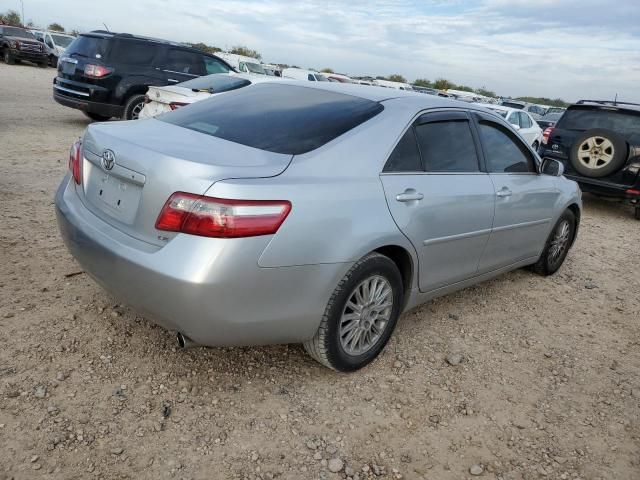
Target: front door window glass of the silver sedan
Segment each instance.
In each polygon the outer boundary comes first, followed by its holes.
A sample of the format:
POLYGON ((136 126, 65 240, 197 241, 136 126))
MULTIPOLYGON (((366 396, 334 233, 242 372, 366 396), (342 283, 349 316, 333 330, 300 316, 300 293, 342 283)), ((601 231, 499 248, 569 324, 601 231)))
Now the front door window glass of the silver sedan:
POLYGON ((480 121, 480 139, 491 173, 535 173, 535 163, 524 144, 502 126, 480 121))

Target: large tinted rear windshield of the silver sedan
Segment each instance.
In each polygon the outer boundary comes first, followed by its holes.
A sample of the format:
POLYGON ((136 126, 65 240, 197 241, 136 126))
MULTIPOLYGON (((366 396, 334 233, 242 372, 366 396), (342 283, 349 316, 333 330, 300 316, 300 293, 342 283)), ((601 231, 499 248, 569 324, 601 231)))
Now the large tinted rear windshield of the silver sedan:
POLYGON ((383 109, 380 103, 351 95, 265 83, 203 100, 158 119, 249 147, 300 155, 383 109))

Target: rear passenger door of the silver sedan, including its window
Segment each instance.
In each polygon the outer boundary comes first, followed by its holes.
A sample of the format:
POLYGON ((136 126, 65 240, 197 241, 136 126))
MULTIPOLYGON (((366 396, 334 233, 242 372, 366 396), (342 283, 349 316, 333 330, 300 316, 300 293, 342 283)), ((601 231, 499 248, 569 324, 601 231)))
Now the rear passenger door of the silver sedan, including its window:
POLYGON ((466 112, 427 113, 405 132, 380 176, 391 214, 416 249, 423 292, 477 272, 495 192, 476 145, 466 112))

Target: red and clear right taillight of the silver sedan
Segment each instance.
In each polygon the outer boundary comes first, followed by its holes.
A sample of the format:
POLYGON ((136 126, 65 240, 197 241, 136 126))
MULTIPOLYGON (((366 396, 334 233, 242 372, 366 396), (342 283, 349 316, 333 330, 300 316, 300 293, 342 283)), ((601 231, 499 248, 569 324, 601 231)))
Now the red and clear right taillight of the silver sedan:
POLYGON ((217 238, 271 235, 290 211, 286 200, 229 200, 176 192, 162 207, 156 228, 217 238))

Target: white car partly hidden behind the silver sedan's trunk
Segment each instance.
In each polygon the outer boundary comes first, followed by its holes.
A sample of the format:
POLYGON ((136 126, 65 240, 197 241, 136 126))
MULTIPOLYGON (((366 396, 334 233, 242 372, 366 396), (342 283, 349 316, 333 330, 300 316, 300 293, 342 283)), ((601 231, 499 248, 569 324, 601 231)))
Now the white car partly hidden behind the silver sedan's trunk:
POLYGON ((279 77, 245 73, 214 73, 166 87, 149 87, 138 118, 153 118, 206 98, 256 83, 277 82, 279 77))

